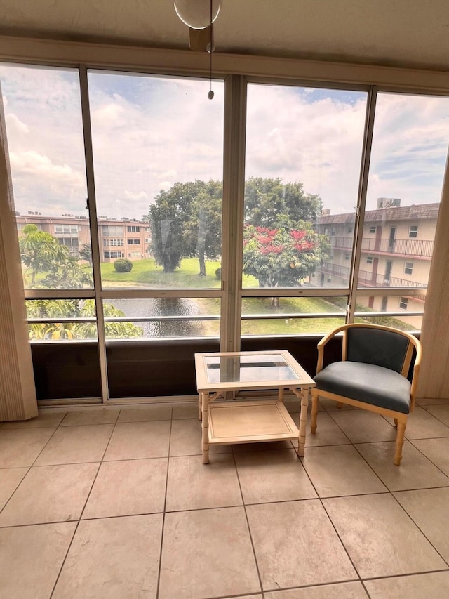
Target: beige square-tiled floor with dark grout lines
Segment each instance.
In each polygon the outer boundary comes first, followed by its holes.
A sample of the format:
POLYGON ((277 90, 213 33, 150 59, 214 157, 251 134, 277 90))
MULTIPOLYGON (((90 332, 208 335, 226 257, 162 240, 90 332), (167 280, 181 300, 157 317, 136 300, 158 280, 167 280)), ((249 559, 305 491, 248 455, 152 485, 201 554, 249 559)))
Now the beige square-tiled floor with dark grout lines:
POLYGON ((321 407, 304 459, 208 466, 195 403, 0 424, 0 598, 447 598, 449 401, 410 416, 399 468, 389 421, 321 407))

